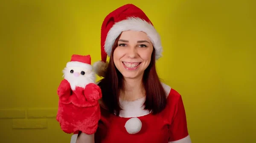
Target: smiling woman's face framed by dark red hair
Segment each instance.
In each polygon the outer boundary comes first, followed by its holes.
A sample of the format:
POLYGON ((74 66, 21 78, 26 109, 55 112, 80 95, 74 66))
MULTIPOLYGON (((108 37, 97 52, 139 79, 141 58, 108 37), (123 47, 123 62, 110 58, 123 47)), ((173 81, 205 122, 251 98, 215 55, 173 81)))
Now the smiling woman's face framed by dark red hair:
POLYGON ((124 78, 142 77, 150 63, 152 52, 153 45, 147 34, 123 31, 113 52, 113 62, 124 78))

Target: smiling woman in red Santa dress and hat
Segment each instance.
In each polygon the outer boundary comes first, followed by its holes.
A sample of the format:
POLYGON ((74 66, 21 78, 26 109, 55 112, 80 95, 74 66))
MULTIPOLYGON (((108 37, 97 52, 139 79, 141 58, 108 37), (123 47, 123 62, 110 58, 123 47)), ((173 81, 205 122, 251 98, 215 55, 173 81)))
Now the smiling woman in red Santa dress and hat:
POLYGON ((117 8, 101 36, 102 61, 94 64, 104 77, 101 119, 95 134, 74 134, 71 143, 191 143, 180 94, 157 76, 160 36, 144 12, 132 4, 117 8))

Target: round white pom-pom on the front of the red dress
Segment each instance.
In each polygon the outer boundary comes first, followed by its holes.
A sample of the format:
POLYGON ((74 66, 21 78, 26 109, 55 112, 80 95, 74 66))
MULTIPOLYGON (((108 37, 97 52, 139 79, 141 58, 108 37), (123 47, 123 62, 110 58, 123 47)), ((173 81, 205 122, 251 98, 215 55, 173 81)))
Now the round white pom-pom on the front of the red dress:
POLYGON ((139 118, 131 118, 125 123, 125 129, 129 134, 136 134, 140 132, 142 123, 139 118))

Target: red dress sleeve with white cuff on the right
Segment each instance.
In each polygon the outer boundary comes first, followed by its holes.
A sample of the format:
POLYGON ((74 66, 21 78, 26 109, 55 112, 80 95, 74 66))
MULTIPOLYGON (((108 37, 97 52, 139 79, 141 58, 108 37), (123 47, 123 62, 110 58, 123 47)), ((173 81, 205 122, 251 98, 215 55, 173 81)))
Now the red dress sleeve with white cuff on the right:
POLYGON ((169 142, 190 143, 186 122, 186 113, 181 95, 172 89, 169 96, 171 96, 168 97, 169 103, 171 104, 171 115, 169 119, 169 121, 171 121, 171 125, 169 127, 169 142), (183 142, 182 140, 186 140, 186 142, 183 142))

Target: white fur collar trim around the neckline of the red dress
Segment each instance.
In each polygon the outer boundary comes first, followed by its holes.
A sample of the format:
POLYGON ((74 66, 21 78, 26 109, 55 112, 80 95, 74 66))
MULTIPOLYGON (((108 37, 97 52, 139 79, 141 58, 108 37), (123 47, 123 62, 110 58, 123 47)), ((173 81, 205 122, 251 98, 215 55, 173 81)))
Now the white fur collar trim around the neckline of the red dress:
MULTIPOLYGON (((171 87, 169 87, 164 83, 162 83, 162 85, 166 91, 166 95, 168 96, 171 91, 171 87)), ((135 101, 122 101, 120 99, 119 102, 122 108, 122 110, 120 110, 120 113, 119 113, 120 117, 124 117, 124 118, 141 117, 151 113, 149 110, 144 109, 145 106, 143 104, 145 102, 145 96, 135 101)))

